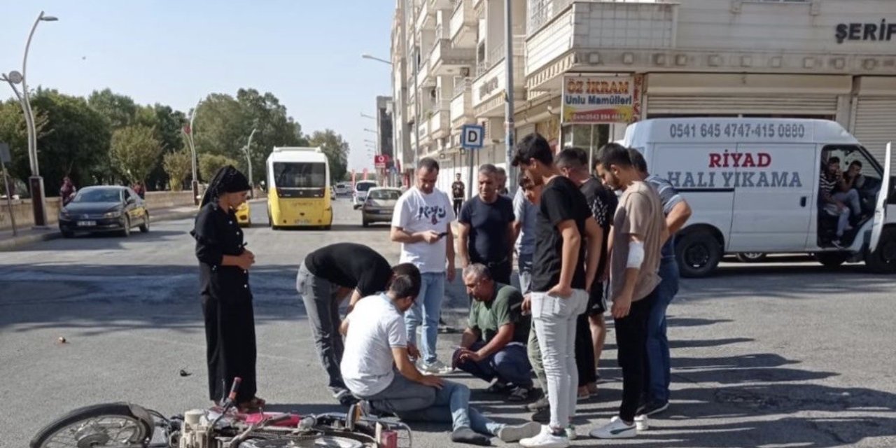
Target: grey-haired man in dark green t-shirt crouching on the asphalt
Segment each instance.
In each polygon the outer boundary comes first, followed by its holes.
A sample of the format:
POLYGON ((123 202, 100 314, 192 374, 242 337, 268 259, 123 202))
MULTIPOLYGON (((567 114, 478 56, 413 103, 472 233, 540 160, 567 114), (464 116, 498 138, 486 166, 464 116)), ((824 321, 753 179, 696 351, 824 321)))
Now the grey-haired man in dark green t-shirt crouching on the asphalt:
POLYGON ((461 348, 452 357, 454 366, 486 381, 496 378, 488 392, 510 392, 510 401, 528 400, 532 389, 532 366, 526 356, 530 319, 521 313, 522 294, 493 280, 488 268, 479 263, 463 270, 463 283, 473 305, 461 348))

